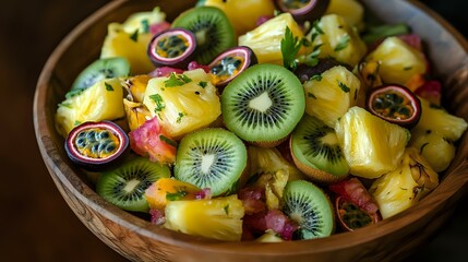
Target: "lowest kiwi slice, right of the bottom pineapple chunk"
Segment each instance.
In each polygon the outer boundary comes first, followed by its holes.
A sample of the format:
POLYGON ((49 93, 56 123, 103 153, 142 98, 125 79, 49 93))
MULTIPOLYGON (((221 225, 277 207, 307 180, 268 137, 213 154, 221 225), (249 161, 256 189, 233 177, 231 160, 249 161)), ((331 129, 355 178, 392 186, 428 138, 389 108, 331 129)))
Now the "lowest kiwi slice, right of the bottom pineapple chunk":
POLYGON ((315 184, 305 180, 290 181, 283 201, 283 212, 299 224, 296 231, 299 239, 327 237, 335 231, 332 202, 315 184))

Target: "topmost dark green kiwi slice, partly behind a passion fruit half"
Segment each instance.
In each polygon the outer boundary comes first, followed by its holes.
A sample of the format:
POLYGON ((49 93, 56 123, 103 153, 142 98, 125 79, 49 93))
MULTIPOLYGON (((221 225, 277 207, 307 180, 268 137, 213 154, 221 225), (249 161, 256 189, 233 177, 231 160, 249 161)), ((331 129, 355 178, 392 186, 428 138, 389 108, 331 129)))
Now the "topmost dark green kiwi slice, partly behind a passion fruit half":
POLYGON ((192 8, 176 17, 172 27, 182 27, 195 35, 195 61, 201 64, 208 64, 224 50, 236 45, 233 27, 218 8, 192 8))

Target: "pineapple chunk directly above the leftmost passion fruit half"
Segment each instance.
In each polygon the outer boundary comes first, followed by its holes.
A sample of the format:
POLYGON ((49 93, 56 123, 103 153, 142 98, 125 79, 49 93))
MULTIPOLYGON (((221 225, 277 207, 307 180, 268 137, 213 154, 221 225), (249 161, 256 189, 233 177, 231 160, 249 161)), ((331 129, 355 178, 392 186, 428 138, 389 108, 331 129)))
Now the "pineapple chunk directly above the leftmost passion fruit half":
POLYGON ((118 79, 101 80, 86 90, 67 94, 56 112, 56 129, 67 138, 69 132, 86 121, 116 120, 125 116, 123 88, 118 79))

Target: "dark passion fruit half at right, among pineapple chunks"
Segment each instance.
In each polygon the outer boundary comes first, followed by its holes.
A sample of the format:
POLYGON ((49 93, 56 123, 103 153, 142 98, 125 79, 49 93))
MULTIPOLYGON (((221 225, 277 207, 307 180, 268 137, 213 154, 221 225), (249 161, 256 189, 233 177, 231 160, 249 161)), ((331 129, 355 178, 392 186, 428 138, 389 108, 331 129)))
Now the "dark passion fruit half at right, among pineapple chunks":
POLYGON ((372 88, 365 102, 367 109, 373 115, 411 129, 421 117, 421 102, 407 87, 388 84, 372 88))

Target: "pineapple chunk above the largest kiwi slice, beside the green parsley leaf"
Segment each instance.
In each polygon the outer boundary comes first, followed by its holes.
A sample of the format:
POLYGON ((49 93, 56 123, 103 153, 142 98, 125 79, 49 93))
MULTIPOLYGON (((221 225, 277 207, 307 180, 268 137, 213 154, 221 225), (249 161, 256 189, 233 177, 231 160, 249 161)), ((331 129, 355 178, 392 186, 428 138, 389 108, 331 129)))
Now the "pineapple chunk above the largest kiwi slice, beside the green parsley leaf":
MULTIPOLYGON (((299 39, 303 37, 301 27, 290 13, 281 13, 257 26, 253 31, 239 37, 239 46, 250 47, 256 56, 259 63, 283 64, 281 39, 286 27, 299 39)), ((302 48, 299 53, 305 51, 302 48)))

